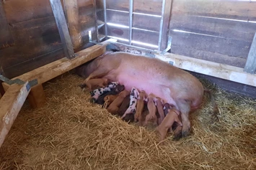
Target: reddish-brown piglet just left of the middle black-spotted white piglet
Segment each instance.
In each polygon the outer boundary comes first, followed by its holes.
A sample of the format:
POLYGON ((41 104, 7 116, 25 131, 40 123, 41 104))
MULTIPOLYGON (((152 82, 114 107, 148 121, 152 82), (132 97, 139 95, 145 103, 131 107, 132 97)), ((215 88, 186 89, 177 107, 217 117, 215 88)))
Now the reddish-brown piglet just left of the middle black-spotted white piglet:
MULTIPOLYGON (((130 92, 128 90, 123 90, 122 92, 119 93, 118 98, 116 98, 108 107, 107 111, 110 112, 113 115, 118 114, 118 109, 120 105, 123 103, 123 100, 125 99, 126 96, 128 96, 130 92)), ((129 96, 128 96, 129 97, 129 96)), ((130 99, 130 98, 129 98, 130 99)), ((127 106, 128 108, 128 106, 127 106)), ((127 109, 126 108, 126 109, 127 109)), ((125 111, 124 111, 125 112, 125 111)))

